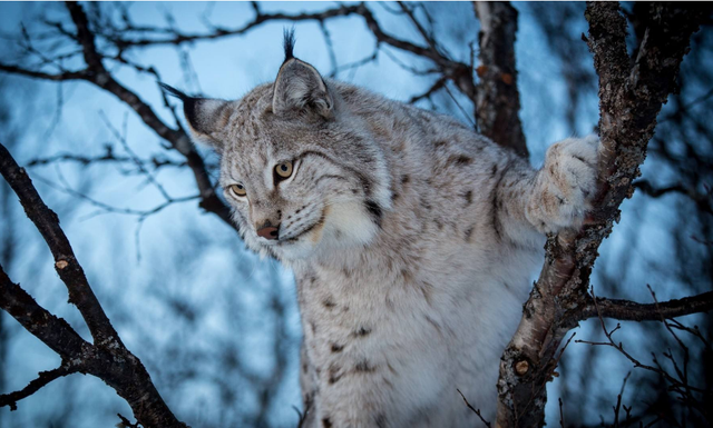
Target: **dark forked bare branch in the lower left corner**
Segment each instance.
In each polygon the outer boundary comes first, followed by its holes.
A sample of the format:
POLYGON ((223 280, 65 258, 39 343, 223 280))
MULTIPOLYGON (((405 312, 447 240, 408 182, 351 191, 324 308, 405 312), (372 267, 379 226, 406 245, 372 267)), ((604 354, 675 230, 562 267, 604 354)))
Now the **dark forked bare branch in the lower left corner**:
POLYGON ((40 374, 21 391, 0 396, 0 406, 14 408, 19 399, 51 380, 81 372, 94 375, 114 388, 129 404, 143 426, 186 427, 168 409, 141 361, 119 339, 59 227, 57 215, 45 205, 25 169, 17 165, 2 145, 0 172, 45 238, 55 257, 57 273, 69 291, 69 301, 77 306, 94 338, 94 344, 84 340, 64 319, 40 307, 0 267, 0 307, 62 358, 60 367, 40 374))

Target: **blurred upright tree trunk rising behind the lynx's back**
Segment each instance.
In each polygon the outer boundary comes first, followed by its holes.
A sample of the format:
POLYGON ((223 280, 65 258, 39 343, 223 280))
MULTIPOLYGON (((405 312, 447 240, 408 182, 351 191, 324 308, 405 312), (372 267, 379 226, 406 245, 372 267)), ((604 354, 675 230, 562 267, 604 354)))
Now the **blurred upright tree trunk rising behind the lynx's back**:
POLYGON ((515 39, 517 10, 509 2, 473 3, 480 20, 478 42, 480 81, 476 89, 476 120, 480 133, 527 158, 520 123, 515 39))

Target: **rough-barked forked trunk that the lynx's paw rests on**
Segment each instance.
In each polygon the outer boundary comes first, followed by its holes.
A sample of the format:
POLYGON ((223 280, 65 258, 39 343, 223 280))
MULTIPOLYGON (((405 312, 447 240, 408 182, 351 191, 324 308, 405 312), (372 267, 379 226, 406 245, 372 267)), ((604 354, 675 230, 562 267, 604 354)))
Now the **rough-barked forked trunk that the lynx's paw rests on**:
POLYGON ((544 425, 545 385, 556 369, 556 351, 576 325, 574 313, 590 301, 587 287, 597 249, 618 221, 619 205, 633 192, 656 115, 674 89, 691 34, 703 16, 685 4, 651 8, 651 26, 632 66, 618 3, 587 4, 588 44, 599 76, 600 191, 592 220, 580 231, 548 238, 545 266, 500 362, 498 427, 544 425))

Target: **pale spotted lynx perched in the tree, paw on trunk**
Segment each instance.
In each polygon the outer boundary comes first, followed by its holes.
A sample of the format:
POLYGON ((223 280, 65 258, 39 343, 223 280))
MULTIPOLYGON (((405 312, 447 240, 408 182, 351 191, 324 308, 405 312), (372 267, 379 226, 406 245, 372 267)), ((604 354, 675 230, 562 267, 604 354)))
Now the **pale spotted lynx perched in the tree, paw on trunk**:
POLYGON ((180 98, 252 250, 292 268, 306 427, 472 427, 497 402, 545 233, 583 222, 598 139, 540 170, 293 54, 243 99, 180 98))

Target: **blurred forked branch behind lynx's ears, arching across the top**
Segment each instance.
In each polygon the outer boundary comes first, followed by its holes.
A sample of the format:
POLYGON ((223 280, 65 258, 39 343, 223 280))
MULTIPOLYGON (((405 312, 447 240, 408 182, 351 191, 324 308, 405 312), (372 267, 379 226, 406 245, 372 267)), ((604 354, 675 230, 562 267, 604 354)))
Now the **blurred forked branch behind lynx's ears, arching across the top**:
MULTIPOLYGON (((126 28, 110 28, 106 29, 102 27, 91 28, 91 22, 88 19, 86 12, 82 9, 82 6, 76 2, 67 2, 67 9, 69 10, 69 14, 72 19, 72 22, 76 27, 76 34, 72 36, 72 39, 76 40, 81 46, 81 53, 84 56, 85 62, 87 63, 87 68, 79 71, 62 71, 57 74, 50 74, 41 71, 35 71, 30 69, 26 69, 18 66, 12 64, 2 64, 0 63, 0 71, 12 72, 16 74, 21 74, 30 78, 38 78, 51 81, 64 81, 64 80, 85 80, 95 86, 113 93, 119 100, 128 104, 138 116, 139 118, 148 126, 154 132, 156 132, 160 138, 167 140, 172 148, 176 149, 179 153, 182 153, 187 161, 188 167, 192 169, 196 185, 198 187, 201 193, 201 202, 199 206, 205 210, 217 215, 222 220, 228 223, 231 227, 235 228, 233 222, 231 221, 231 213, 228 207, 217 197, 214 186, 211 182, 208 177, 205 162, 203 158, 195 150, 193 145, 191 143, 191 139, 187 133, 183 129, 173 129, 168 127, 165 122, 163 122, 155 111, 141 100, 135 92, 129 90, 127 87, 118 82, 111 72, 109 72, 105 64, 104 60, 117 60, 119 62, 126 62, 123 58, 123 53, 125 49, 131 47, 146 47, 153 44, 173 44, 180 46, 186 42, 197 41, 197 40, 212 40, 222 37, 236 36, 247 32, 248 30, 255 28, 256 26, 275 20, 289 20, 289 21, 304 21, 304 20, 316 20, 319 22, 324 22, 328 19, 332 19, 335 17, 344 17, 350 14, 359 14, 361 16, 369 28, 369 30, 377 38, 379 43, 385 43, 392 46, 397 49, 401 49, 413 54, 427 58, 436 63, 438 67, 438 71, 442 73, 442 76, 452 80, 463 94, 466 94, 471 101, 476 101, 476 86, 472 77, 472 67, 466 63, 461 63, 458 61, 453 61, 449 59, 446 54, 439 52, 437 49, 431 47, 424 48, 406 40, 400 40, 393 36, 385 33, 373 13, 365 4, 360 3, 356 6, 341 6, 339 8, 329 9, 322 12, 316 13, 300 13, 300 14, 284 14, 284 13, 262 13, 260 9, 255 9, 256 16, 253 21, 247 23, 246 26, 227 30, 217 27, 212 28, 211 33, 206 34, 185 34, 178 32, 176 29, 157 29, 152 27, 138 27, 131 24, 129 21, 125 22, 126 28), (129 31, 130 30, 130 31, 129 31), (146 39, 123 39, 116 34, 120 33, 136 33, 136 32, 145 32, 149 34, 168 34, 168 38, 146 38, 146 39), (101 37, 106 39, 109 43, 115 44, 118 48, 118 53, 111 56, 105 56, 100 52, 96 39, 97 37, 101 37)), ((66 32, 66 31, 65 31, 66 32)), ((434 41, 433 41, 434 43, 434 41)), ((369 57, 367 60, 373 60, 374 56, 369 57)), ((361 62, 361 61, 360 61, 361 62)), ((136 69, 139 69, 136 66, 136 69)), ((141 71, 153 72, 152 68, 145 69, 140 68, 141 71)), ((470 115, 468 115, 470 116, 470 115)))

